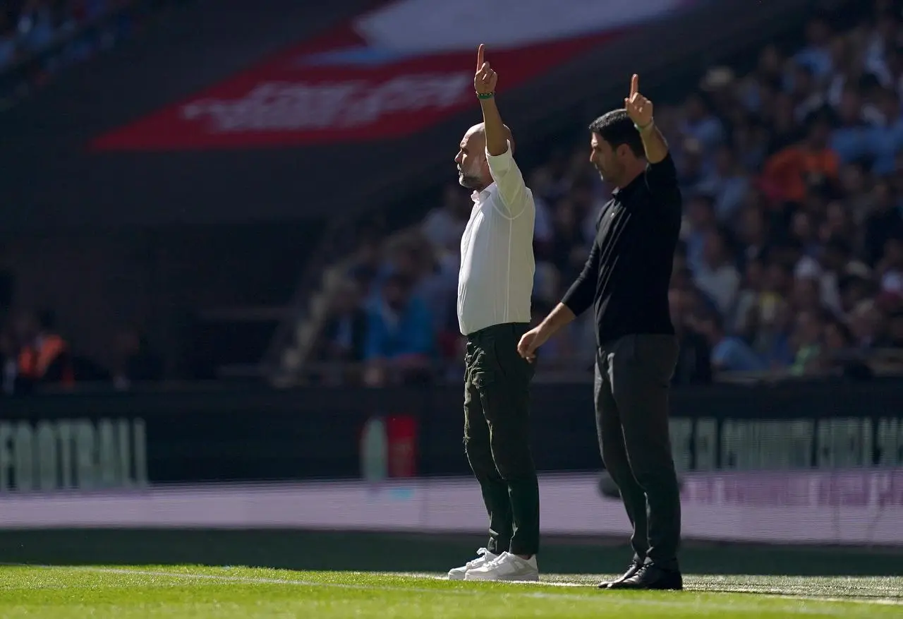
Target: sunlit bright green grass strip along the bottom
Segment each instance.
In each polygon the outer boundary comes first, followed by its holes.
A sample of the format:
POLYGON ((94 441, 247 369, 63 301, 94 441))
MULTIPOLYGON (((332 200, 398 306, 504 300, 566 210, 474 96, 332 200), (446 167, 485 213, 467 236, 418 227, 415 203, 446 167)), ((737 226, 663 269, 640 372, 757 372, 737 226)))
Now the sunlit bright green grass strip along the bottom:
POLYGON ((903 617, 903 577, 687 576, 683 592, 619 592, 597 590, 601 576, 503 584, 252 567, 6 566, 0 617, 903 617))

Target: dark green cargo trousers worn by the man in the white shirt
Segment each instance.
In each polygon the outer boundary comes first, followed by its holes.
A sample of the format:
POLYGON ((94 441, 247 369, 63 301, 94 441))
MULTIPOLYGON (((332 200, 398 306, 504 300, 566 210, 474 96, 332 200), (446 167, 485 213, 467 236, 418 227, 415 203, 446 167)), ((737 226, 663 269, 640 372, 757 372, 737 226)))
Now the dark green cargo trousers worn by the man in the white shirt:
POLYGON ((489 512, 489 552, 539 549, 539 483, 530 453, 533 364, 517 354, 527 324, 497 324, 467 340, 464 450, 489 512))

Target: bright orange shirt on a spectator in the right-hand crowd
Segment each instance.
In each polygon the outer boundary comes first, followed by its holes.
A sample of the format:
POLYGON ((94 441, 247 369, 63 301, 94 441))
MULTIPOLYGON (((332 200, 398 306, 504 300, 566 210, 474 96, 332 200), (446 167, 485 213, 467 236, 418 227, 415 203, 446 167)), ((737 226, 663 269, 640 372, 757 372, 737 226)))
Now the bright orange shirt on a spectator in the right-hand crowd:
POLYGON ((830 148, 813 150, 805 145, 787 146, 768 158, 762 173, 762 190, 772 200, 803 202, 807 179, 835 180, 840 159, 830 148))

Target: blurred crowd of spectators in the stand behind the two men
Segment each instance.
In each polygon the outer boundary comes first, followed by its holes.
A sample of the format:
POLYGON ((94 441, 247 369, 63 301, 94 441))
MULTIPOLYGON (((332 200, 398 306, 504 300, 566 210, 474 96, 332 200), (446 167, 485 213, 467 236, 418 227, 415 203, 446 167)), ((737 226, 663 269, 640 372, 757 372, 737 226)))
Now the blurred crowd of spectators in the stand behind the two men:
MULTIPOLYGON (((675 381, 730 372, 869 376, 903 348, 903 20, 816 16, 746 75, 713 68, 679 106, 656 106, 684 192, 671 306, 675 381)), ((517 133, 517 127, 515 127, 517 133)), ((536 199, 534 313, 580 272, 611 188, 589 136, 525 170, 536 199)), ((418 230, 368 239, 318 348, 368 384, 460 378, 455 295, 470 195, 449 186, 418 230)), ((642 274, 638 274, 642 277, 642 274)), ((544 346, 543 367, 586 370, 589 320, 544 346)), ((336 364, 338 365, 338 364, 336 364)))

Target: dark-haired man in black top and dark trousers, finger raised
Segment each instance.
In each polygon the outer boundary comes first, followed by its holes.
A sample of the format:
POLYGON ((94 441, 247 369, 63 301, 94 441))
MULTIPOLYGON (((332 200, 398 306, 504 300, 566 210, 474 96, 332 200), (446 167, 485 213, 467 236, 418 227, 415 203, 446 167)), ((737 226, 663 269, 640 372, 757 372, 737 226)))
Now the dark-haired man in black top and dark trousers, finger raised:
POLYGON ((633 76, 625 109, 590 126, 590 160, 614 184, 580 277, 518 352, 532 360, 553 333, 591 305, 596 315, 595 405, 602 461, 633 526, 627 572, 600 588, 681 589, 680 492, 668 435, 668 389, 678 344, 668 284, 681 193, 652 103, 633 76))

